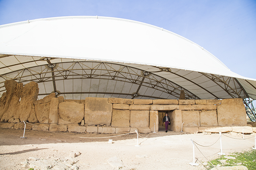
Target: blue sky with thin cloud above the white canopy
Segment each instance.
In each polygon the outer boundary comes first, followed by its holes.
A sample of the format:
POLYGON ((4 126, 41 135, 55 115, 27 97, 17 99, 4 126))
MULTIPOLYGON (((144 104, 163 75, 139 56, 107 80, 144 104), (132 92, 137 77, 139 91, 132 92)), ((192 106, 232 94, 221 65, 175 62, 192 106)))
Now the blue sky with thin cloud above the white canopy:
POLYGON ((0 25, 96 15, 175 32, 204 47, 231 71, 256 79, 256 0, 0 0, 0 25))

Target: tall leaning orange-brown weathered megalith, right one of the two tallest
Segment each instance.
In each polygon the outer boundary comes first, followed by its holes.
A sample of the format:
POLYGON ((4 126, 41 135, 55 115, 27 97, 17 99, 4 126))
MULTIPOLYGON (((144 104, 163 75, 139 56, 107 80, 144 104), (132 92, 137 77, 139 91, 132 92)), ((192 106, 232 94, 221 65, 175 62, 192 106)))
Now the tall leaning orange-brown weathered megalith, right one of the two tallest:
POLYGON ((31 81, 23 87, 20 102, 17 105, 17 112, 14 114, 14 119, 19 118, 20 121, 28 121, 32 104, 36 101, 39 93, 38 84, 31 81))

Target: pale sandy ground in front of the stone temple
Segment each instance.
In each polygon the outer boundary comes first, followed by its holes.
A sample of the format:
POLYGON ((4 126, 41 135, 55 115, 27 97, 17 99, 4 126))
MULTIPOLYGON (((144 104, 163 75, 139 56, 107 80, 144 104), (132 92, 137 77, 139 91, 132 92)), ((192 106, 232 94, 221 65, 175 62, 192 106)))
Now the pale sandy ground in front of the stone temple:
MULTIPOLYGON (((146 135, 140 134, 142 137, 146 135)), ((224 135, 231 137, 222 136, 223 153, 228 154, 253 147, 256 134, 245 135, 245 138, 249 138, 246 140, 242 140, 241 134, 224 135)), ((147 138, 139 137, 139 147, 135 146, 137 134, 101 138, 113 135, 26 130, 27 138, 20 136, 23 136, 23 130, 0 128, 1 170, 28 170, 28 167, 22 167, 21 162, 29 157, 64 159, 69 157, 72 151, 81 153, 74 158, 79 170, 206 170, 201 164, 207 162, 204 156, 207 159, 215 159, 220 152, 219 134, 150 133, 147 138), (195 147, 196 162, 199 166, 189 165, 193 162, 193 145, 190 138, 204 146, 218 140, 210 147, 198 146, 204 156, 195 147), (109 139, 112 139, 113 143, 108 143, 109 139), (110 165, 109 159, 113 157, 121 160, 122 167, 110 165)))

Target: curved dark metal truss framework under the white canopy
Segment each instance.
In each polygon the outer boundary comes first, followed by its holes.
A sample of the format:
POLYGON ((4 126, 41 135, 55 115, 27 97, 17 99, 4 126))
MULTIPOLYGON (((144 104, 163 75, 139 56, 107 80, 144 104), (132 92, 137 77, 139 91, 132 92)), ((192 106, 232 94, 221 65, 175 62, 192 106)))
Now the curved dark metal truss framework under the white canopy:
MULTIPOLYGON (((45 67, 44 69, 41 69, 40 72, 36 71, 34 69, 35 67, 25 68, 22 70, 14 71, 12 75, 15 75, 13 77, 10 77, 9 75, 1 75, 2 78, 5 80, 12 79, 16 80, 19 83, 25 83, 28 81, 35 81, 36 83, 40 84, 43 82, 52 82, 54 92, 57 95, 60 94, 71 94, 71 93, 78 93, 78 94, 124 94, 124 95, 130 95, 132 98, 135 97, 149 97, 149 98, 155 98, 155 99, 165 99, 158 96, 147 96, 139 94, 140 88, 146 87, 151 89, 156 89, 162 93, 169 94, 173 97, 179 98, 181 90, 184 90, 186 99, 200 99, 198 96, 193 94, 187 89, 184 89, 184 87, 179 86, 178 84, 167 80, 166 78, 162 78, 160 76, 157 76, 156 74, 152 72, 147 72, 145 70, 141 70, 135 67, 129 67, 127 65, 121 65, 117 63, 110 63, 110 62, 96 62, 93 61, 94 65, 91 64, 91 67, 88 66, 88 62, 91 61, 76 61, 76 62, 65 62, 65 64, 69 63, 68 68, 61 67, 61 63, 54 63, 52 64, 50 62, 50 59, 46 59, 48 64, 47 65, 41 65, 41 67, 45 67), (96 63, 96 64, 95 64, 96 63), (118 66, 118 67, 115 67, 118 66), (118 69, 116 69, 118 68, 118 69), (115 80, 115 81, 123 81, 125 83, 131 83, 138 85, 138 89, 136 92, 133 93, 115 93, 115 92, 104 92, 104 91, 98 91, 98 92, 58 92, 58 89, 56 89, 55 82, 60 80, 68 80, 68 79, 106 79, 106 80, 115 80)), ((22 63, 21 63, 22 64, 22 63)), ((36 66, 38 67, 38 66, 36 66)), ((190 81, 193 84, 196 84, 192 80, 185 78, 183 76, 180 76, 174 72, 171 71, 171 69, 162 69, 160 68, 160 71, 167 71, 171 74, 175 74, 176 76, 184 78, 186 81, 190 81)), ((245 107, 247 108, 247 114, 249 118, 252 121, 256 121, 255 117, 255 108, 253 107, 253 104, 248 102, 248 94, 245 92, 245 90, 242 88, 241 84, 239 84, 239 81, 237 81, 236 78, 227 77, 227 76, 217 76, 215 74, 209 74, 209 73, 201 73, 203 76, 207 77, 209 80, 213 81, 217 86, 219 86, 221 89, 223 89, 231 98, 242 98, 245 104, 245 107)), ((3 82, 0 82, 0 84, 3 84, 3 82)), ((199 84, 196 84, 201 89, 204 89, 206 92, 214 96, 216 99, 219 99, 217 95, 210 92, 203 86, 200 86, 199 84)), ((5 91, 4 86, 0 86, 0 92, 5 91)), ((39 95, 47 95, 46 94, 39 94, 39 95)))

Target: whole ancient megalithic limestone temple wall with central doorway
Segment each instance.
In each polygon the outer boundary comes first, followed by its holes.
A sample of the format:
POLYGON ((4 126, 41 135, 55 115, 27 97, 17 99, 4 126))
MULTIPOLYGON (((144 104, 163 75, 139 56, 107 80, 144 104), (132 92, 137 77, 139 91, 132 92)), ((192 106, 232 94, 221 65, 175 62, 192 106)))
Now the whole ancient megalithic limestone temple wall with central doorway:
POLYGON ((35 100, 39 92, 36 83, 30 82, 24 87, 15 81, 6 81, 5 84, 8 88, 0 98, 0 121, 13 125, 28 121, 34 123, 34 130, 46 130, 48 127, 48 130, 56 132, 126 133, 138 130, 148 133, 155 128, 157 132, 165 113, 171 118, 169 130, 176 132, 181 131, 182 126, 184 132, 201 132, 202 128, 205 130, 220 126, 246 126, 242 99, 86 97, 85 100, 64 100, 64 97, 56 98, 55 93, 52 93, 35 100), (15 111, 13 108, 16 108, 15 111))

